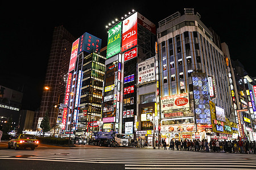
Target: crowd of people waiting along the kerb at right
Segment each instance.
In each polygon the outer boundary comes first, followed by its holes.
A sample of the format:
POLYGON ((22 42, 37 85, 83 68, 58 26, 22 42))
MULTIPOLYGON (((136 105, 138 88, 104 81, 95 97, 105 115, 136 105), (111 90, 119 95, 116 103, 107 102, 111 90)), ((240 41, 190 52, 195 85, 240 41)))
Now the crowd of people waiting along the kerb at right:
MULTIPOLYGON (((162 139, 160 145, 167 150, 167 143, 162 139)), ((177 151, 205 151, 205 152, 226 152, 226 153, 245 153, 245 154, 256 154, 256 142, 237 141, 234 139, 224 141, 218 139, 211 139, 210 142, 207 139, 200 141, 199 139, 194 140, 171 140, 169 145, 169 150, 177 151)))

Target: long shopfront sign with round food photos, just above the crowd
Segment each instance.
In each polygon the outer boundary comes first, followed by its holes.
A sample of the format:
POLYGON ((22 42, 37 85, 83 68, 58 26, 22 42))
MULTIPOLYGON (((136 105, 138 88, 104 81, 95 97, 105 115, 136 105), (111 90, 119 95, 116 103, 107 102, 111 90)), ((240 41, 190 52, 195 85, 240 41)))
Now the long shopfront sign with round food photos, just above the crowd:
POLYGON ((161 126, 160 133, 195 132, 196 125, 169 125, 161 126))

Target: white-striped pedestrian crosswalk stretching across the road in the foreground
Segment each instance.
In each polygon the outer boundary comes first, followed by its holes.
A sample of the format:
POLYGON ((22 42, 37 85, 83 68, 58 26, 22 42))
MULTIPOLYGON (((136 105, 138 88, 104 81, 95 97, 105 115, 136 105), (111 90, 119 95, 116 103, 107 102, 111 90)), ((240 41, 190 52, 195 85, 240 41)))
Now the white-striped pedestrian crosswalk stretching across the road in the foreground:
POLYGON ((251 155, 196 152, 166 152, 163 150, 0 150, 0 161, 5 159, 46 162, 123 164, 123 169, 256 169, 251 155))

